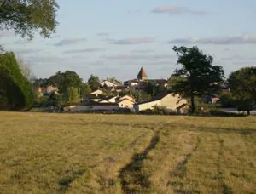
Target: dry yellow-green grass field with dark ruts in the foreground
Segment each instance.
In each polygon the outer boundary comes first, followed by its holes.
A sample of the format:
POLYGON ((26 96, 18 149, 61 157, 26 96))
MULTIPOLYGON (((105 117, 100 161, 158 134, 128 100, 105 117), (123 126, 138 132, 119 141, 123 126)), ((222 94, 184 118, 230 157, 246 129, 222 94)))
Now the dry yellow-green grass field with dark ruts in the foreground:
POLYGON ((256 193, 256 117, 0 112, 0 193, 256 193))

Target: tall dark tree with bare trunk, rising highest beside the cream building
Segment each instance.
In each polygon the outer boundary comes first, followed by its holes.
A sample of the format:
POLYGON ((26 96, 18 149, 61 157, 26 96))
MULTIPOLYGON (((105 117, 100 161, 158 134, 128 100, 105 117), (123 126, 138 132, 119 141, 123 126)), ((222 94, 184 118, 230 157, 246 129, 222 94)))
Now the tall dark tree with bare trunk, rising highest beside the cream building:
POLYGON ((219 83, 223 81, 224 70, 222 66, 212 66, 213 58, 210 55, 203 54, 197 47, 173 47, 178 60, 177 64, 182 65, 176 69, 172 76, 183 77, 172 89, 190 97, 191 112, 195 112, 195 96, 202 94, 217 93, 219 83))

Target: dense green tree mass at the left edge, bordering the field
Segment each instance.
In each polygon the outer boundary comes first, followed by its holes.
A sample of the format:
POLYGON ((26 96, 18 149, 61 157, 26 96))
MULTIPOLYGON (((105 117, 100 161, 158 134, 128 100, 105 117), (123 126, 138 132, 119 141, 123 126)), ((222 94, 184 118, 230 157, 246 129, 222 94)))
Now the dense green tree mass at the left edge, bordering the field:
POLYGON ((0 109, 22 111, 32 105, 32 84, 22 75, 15 54, 0 54, 0 109))

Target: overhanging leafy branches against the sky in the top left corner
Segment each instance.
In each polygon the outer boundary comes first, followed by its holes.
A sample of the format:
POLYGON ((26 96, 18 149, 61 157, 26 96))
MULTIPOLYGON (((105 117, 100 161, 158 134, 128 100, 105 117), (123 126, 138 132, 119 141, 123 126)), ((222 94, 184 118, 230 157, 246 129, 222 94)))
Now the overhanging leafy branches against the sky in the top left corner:
POLYGON ((57 21, 55 0, 0 0, 0 29, 13 29, 22 37, 33 37, 33 31, 49 37, 57 21))

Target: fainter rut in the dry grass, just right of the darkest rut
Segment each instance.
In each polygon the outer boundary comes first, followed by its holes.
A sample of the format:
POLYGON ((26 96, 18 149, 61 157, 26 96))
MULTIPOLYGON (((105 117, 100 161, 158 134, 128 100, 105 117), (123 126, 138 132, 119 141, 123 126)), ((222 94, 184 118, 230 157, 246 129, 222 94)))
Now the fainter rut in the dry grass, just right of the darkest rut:
MULTIPOLYGON (((187 163, 189 162, 189 159, 192 157, 193 154, 197 151, 199 145, 201 143, 201 139, 197 137, 196 145, 190 151, 188 154, 185 155, 183 160, 179 163, 177 163, 177 168, 171 172, 171 177, 178 177, 179 179, 182 179, 186 173, 187 173, 187 163)), ((174 188, 174 191, 177 193, 200 193, 199 191, 184 191, 183 189, 176 189, 176 187, 183 187, 182 182, 177 181, 168 181, 167 186, 172 186, 174 188)))

